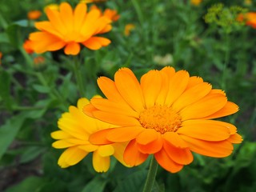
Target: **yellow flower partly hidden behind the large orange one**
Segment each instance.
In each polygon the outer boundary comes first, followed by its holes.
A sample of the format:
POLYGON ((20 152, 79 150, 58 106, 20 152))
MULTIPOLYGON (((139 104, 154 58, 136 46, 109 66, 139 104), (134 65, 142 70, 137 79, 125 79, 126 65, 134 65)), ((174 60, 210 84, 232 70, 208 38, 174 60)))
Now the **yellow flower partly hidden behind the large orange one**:
POLYGON ((58 159, 58 165, 62 168, 74 166, 92 152, 94 170, 106 172, 110 167, 111 155, 124 163, 122 154, 126 145, 121 143, 95 146, 88 141, 90 134, 111 126, 109 123, 101 122, 84 114, 82 107, 88 103, 88 99, 80 98, 78 107, 70 106, 69 112, 62 114, 58 120, 60 130, 51 133, 52 138, 58 139, 52 146, 56 149, 67 148, 58 159))

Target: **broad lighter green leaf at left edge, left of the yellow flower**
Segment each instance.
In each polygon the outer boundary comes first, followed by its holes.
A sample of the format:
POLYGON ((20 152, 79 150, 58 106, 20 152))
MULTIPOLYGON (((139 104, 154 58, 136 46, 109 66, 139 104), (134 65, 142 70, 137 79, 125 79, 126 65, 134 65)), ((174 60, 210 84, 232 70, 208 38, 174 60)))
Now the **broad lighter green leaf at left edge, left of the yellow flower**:
POLYGON ((0 159, 18 134, 18 130, 22 127, 26 117, 26 114, 18 114, 10 118, 5 125, 0 127, 0 159))

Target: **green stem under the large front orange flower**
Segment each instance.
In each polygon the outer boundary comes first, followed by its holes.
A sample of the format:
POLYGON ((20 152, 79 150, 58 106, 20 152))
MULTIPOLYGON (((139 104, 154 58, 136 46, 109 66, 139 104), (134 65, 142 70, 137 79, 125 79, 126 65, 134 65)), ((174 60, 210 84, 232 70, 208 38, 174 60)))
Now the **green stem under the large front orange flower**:
POLYGON ((146 182, 143 188, 143 192, 152 191, 152 187, 154 186, 154 179, 158 170, 158 162, 155 160, 154 156, 151 158, 150 162, 150 170, 146 177, 146 182))

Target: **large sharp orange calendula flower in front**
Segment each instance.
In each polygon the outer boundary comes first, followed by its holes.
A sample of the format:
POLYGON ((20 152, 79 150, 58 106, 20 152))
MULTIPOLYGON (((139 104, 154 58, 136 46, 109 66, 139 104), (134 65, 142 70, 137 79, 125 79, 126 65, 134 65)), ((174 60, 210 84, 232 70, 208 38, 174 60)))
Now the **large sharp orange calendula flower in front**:
POLYGON ((106 98, 92 98, 84 112, 116 127, 90 136, 94 144, 129 142, 124 161, 138 166, 149 154, 171 173, 193 161, 191 151, 223 158, 242 142, 237 128, 214 118, 238 111, 222 90, 212 89, 202 78, 170 66, 150 70, 138 82, 122 68, 110 78, 98 78, 106 98))

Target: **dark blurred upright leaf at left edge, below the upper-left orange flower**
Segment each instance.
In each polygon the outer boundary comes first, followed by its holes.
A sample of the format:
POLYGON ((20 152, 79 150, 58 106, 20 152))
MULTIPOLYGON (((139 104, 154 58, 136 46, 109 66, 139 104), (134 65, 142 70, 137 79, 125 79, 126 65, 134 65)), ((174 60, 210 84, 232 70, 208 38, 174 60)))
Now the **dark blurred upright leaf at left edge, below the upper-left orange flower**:
POLYGON ((13 99, 10 96, 10 74, 0 69, 0 97, 7 109, 12 108, 13 99))

